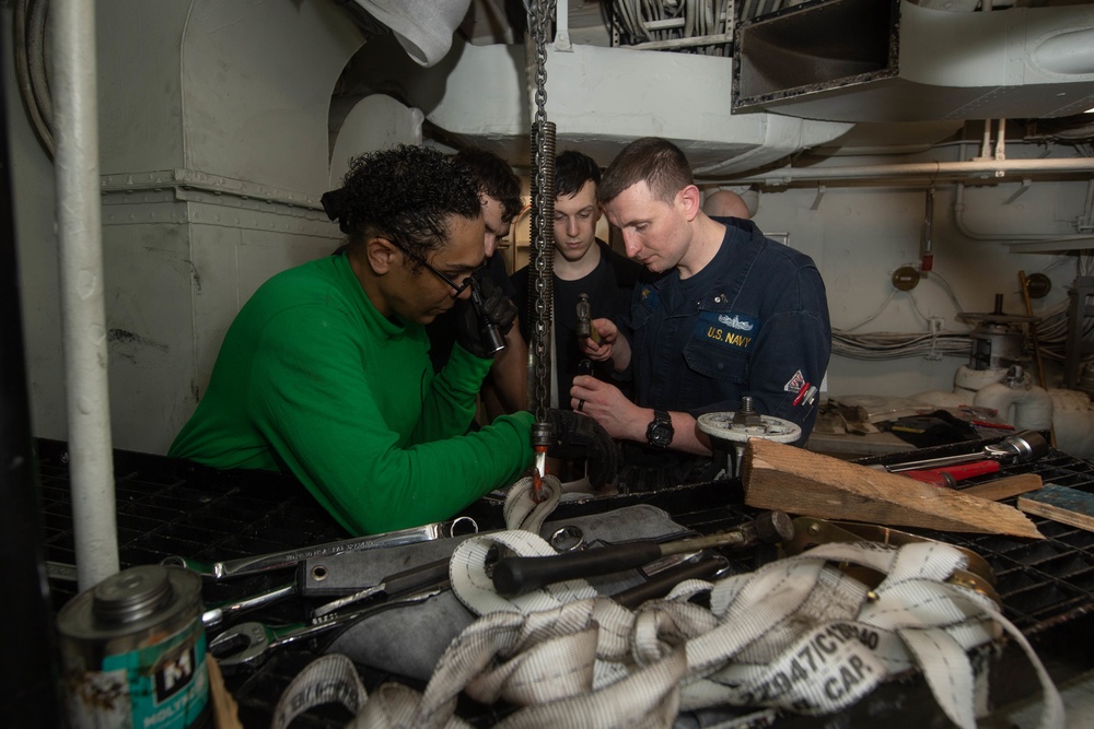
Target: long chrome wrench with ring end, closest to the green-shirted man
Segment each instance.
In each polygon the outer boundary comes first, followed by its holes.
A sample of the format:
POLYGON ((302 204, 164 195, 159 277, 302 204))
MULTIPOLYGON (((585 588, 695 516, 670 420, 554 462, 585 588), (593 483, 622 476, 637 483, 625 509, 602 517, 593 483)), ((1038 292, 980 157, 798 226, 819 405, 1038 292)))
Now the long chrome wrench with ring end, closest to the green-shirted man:
POLYGON ((259 554, 257 556, 240 557, 237 560, 225 560, 224 562, 216 562, 212 564, 174 555, 164 557, 160 561, 160 564, 187 567, 202 577, 223 579, 225 577, 235 577, 237 575, 251 575, 259 572, 292 567, 293 565, 313 557, 324 557, 333 554, 341 554, 342 552, 357 552, 384 546, 398 546, 400 544, 415 544, 418 542, 428 542, 434 539, 447 539, 450 537, 466 533, 478 533, 478 524, 469 516, 462 516, 453 519, 452 521, 439 521, 435 524, 427 524, 421 527, 411 527, 410 529, 387 531, 382 534, 346 539, 340 542, 327 542, 326 544, 304 546, 299 550, 287 550, 284 552, 274 552, 272 554, 259 554))

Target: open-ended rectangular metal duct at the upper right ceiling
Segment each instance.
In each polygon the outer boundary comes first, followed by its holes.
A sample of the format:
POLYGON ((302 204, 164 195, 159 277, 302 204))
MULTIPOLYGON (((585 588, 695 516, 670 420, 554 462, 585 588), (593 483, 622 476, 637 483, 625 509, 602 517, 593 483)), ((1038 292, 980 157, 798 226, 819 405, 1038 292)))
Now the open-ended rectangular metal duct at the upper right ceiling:
POLYGON ((815 0, 743 22, 734 113, 829 121, 1045 118, 1094 106, 1094 5, 815 0))

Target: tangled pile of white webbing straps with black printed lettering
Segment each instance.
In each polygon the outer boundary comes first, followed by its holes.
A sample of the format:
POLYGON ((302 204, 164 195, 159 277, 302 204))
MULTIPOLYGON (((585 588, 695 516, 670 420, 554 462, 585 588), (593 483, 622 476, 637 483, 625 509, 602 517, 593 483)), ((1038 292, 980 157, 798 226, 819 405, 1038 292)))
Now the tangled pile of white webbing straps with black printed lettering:
MULTIPOLYGON (((713 585, 689 580, 637 612, 597 597, 584 580, 502 598, 486 575, 494 544, 552 553, 524 531, 465 540, 453 555, 453 589, 482 618, 449 646, 421 696, 385 694, 398 701, 385 709, 388 724, 369 726, 458 726, 450 721, 461 691, 521 707, 499 725, 507 729, 667 727, 679 710, 725 704, 824 715, 918 666, 951 720, 975 729, 967 650, 1000 635, 998 626, 1036 668, 1040 726, 1063 726, 1059 694, 1021 633, 989 599, 944 581, 965 566, 944 544, 822 545, 713 585), (884 579, 871 590, 835 564, 884 579), (709 610, 688 602, 705 592, 709 610)), ((372 704, 370 716, 380 710, 372 704)))

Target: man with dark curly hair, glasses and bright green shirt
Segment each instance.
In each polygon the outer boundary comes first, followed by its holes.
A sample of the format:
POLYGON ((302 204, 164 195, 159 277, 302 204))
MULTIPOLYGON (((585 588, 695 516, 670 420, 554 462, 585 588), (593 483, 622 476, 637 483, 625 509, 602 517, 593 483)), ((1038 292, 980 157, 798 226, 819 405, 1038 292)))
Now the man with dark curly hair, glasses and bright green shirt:
MULTIPOLYGON (((449 518, 532 461, 528 412, 465 435, 492 364, 477 317, 440 372, 427 354, 424 325, 466 303, 484 261, 476 185, 400 146, 354 158, 324 204, 345 250, 255 292, 170 455, 289 471, 352 533, 449 518)), ((502 327, 515 316, 500 292, 485 310, 502 327)))

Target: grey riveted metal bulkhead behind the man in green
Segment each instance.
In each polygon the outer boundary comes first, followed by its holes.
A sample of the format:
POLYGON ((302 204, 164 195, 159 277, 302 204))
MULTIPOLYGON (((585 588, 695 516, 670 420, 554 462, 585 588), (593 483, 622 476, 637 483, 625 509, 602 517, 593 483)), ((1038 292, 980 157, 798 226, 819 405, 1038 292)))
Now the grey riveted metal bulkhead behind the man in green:
POLYGON ((254 290, 339 243, 319 204, 330 97, 364 36, 330 0, 97 17, 114 445, 165 452, 254 290))

